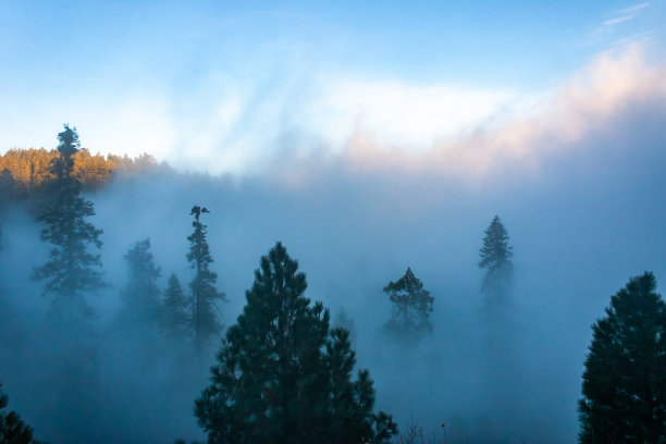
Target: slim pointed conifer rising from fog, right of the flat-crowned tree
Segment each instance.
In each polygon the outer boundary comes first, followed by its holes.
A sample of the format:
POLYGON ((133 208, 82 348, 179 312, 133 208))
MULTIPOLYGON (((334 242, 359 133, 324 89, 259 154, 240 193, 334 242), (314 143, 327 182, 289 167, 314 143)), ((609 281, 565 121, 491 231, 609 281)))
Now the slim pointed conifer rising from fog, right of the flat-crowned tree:
POLYGON ((483 246, 479 251, 479 268, 485 269, 481 291, 485 294, 485 310, 496 311, 508 303, 514 280, 514 247, 508 246, 508 233, 495 215, 485 230, 483 246))

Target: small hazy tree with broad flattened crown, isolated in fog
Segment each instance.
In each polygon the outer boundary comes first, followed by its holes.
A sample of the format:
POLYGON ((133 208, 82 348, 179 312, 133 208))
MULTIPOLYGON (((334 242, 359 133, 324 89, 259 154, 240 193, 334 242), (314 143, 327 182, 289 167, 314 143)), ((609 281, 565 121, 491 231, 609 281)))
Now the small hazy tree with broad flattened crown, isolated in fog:
POLYGON ((423 283, 408 268, 405 275, 390 282, 384 293, 393 304, 391 319, 384 328, 391 334, 412 341, 432 332, 430 314, 434 297, 423 288, 423 283))

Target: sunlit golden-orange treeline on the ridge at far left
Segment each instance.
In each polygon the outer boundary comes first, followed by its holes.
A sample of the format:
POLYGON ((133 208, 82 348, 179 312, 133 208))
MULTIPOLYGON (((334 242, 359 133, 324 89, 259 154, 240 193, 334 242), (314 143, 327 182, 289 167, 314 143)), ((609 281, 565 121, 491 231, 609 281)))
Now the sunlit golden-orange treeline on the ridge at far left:
MULTIPOLYGON (((33 196, 46 184, 55 180, 53 163, 60 152, 57 149, 12 148, 0 156, 0 196, 5 200, 22 200, 33 196)), ((143 153, 137 158, 91 155, 86 148, 72 155, 72 175, 84 188, 96 188, 118 174, 134 176, 144 172, 168 172, 172 169, 164 162, 143 153)))

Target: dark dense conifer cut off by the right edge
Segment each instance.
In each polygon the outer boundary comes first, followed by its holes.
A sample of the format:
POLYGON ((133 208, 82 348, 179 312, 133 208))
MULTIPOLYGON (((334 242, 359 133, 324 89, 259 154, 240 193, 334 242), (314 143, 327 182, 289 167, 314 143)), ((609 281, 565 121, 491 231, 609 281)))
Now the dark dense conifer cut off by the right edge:
POLYGON ((666 305, 650 272, 592 325, 579 400, 580 442, 666 442, 666 305))

